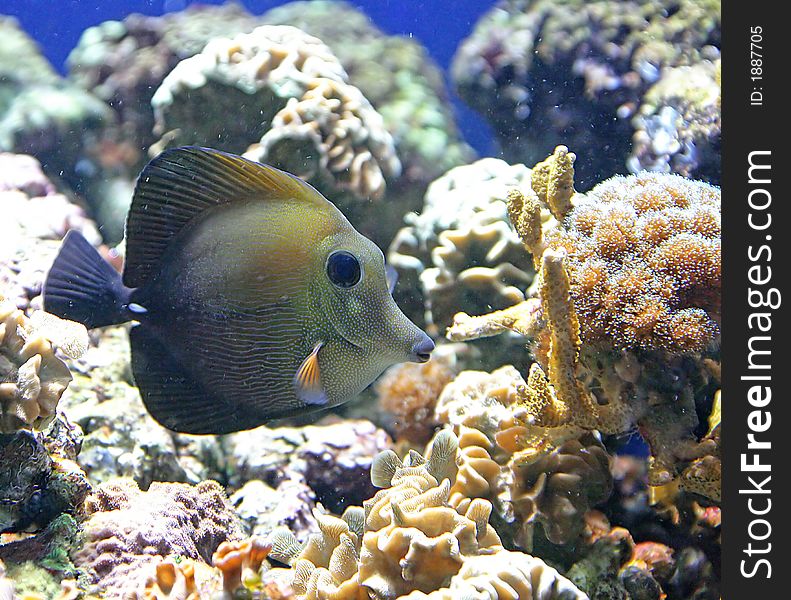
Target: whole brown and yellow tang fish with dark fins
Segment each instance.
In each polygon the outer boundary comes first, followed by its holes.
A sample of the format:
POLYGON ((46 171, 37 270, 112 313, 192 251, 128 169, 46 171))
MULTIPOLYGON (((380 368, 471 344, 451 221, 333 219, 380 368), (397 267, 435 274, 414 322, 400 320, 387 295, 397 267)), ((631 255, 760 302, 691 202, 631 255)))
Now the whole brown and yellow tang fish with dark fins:
POLYGON ((346 402, 434 344, 398 308, 384 257, 296 177, 207 148, 140 174, 123 278, 70 231, 44 307, 132 327, 146 407, 184 433, 229 433, 346 402))

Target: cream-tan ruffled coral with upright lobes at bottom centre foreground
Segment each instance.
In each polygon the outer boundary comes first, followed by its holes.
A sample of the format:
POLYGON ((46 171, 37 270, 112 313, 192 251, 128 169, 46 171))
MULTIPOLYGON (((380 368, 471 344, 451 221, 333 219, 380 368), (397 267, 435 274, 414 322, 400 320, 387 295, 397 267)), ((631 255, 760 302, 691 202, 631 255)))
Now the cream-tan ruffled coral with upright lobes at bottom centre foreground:
POLYGON ((321 533, 304 546, 289 531, 272 539, 272 556, 293 567, 300 598, 587 598, 540 559, 503 549, 482 498, 463 510, 448 503, 459 441, 449 430, 427 456, 392 451, 371 472, 382 487, 342 518, 319 518, 321 533))

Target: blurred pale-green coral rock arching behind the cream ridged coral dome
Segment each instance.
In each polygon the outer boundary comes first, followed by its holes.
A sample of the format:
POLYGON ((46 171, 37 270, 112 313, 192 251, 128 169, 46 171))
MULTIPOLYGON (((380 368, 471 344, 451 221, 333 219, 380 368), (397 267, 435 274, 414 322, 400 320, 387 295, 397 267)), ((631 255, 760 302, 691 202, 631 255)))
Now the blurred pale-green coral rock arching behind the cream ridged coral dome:
POLYGON ((365 14, 337 0, 290 2, 262 20, 298 27, 332 49, 393 136, 403 165, 400 187, 425 186, 472 159, 457 131, 442 73, 414 39, 385 35, 365 14))

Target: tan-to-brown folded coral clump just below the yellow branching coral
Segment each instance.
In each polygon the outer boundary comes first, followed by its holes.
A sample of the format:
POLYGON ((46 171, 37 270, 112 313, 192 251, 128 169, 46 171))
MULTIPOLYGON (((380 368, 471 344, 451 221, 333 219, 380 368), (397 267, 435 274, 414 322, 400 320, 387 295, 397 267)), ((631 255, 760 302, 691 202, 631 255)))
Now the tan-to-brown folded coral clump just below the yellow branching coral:
POLYGON ((436 414, 459 435, 461 465, 451 503, 486 498, 498 533, 530 550, 536 531, 551 544, 579 540, 587 511, 610 495, 612 477, 607 452, 590 434, 523 439, 526 428, 516 424, 525 418, 526 387, 510 365, 492 373, 463 371, 443 390, 436 414))

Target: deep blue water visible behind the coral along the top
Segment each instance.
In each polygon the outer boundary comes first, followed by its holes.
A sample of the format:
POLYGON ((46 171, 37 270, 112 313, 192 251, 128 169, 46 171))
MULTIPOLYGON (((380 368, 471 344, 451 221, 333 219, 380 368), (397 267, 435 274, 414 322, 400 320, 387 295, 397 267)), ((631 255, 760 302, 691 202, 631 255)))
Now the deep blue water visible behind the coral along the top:
MULTIPOLYGON (((261 14, 287 2, 246 0, 238 2, 249 12, 261 14)), ((494 0, 358 0, 349 2, 365 12, 383 31, 414 36, 445 71, 453 54, 494 0)), ((162 15, 191 4, 224 4, 224 0, 0 0, 0 13, 17 17, 45 56, 61 73, 66 58, 85 29, 103 21, 120 21, 131 13, 162 15)), ((481 156, 494 153, 492 136, 483 119, 455 96, 454 108, 465 139, 481 156)))

